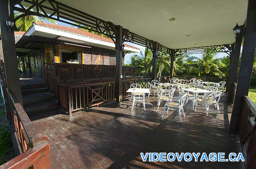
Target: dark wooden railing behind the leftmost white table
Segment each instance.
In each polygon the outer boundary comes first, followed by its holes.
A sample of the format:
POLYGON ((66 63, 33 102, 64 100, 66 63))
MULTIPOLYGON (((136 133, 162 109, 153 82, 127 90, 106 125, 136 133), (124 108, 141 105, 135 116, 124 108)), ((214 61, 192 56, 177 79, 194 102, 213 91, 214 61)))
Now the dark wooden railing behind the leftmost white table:
POLYGON ((125 98, 127 96, 130 96, 130 93, 127 93, 126 91, 130 88, 130 85, 132 83, 137 83, 139 84, 142 88, 149 88, 148 82, 151 83, 152 78, 137 78, 137 79, 128 79, 128 80, 123 80, 122 84, 122 97, 125 98))

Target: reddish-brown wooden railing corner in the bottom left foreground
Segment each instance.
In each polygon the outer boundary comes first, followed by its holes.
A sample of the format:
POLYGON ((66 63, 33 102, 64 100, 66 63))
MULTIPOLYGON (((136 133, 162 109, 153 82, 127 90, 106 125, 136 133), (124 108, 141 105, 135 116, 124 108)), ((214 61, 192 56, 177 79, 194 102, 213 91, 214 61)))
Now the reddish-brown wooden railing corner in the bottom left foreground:
POLYGON ((48 138, 36 131, 18 99, 8 90, 7 93, 12 119, 12 140, 19 145, 20 152, 16 153, 21 154, 0 168, 51 168, 48 138))

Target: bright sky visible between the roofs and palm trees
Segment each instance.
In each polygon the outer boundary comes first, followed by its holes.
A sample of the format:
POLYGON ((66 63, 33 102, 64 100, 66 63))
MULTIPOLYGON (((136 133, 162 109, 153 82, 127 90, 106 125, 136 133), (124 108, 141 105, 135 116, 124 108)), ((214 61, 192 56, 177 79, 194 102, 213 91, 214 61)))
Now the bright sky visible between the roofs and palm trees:
MULTIPOLYGON (((75 27, 75 26, 72 26, 72 25, 70 25, 70 24, 65 24, 65 23, 63 23, 63 22, 59 22, 59 21, 56 21, 57 22, 57 24, 58 25, 62 25, 62 26, 68 26, 68 27, 75 27)), ((141 51, 143 51, 142 53, 144 53, 144 51, 145 51, 145 47, 144 46, 141 46, 141 45, 137 45, 137 44, 134 44, 134 43, 130 43, 130 42, 124 42, 124 43, 126 43, 126 44, 128 44, 128 45, 132 45, 132 46, 134 46, 134 47, 138 47, 138 48, 140 48, 140 50, 141 51)), ((127 64, 127 63, 130 63, 130 58, 132 57, 132 55, 140 55, 140 53, 127 53, 126 55, 125 55, 125 57, 124 57, 124 63, 125 64, 127 64)), ((201 55, 202 54, 193 54, 192 56, 196 56, 196 57, 201 57, 201 55)), ((216 57, 218 57, 218 58, 221 58, 221 57, 225 57, 225 56, 227 56, 227 54, 226 53, 217 53, 217 55, 216 55, 216 57)))

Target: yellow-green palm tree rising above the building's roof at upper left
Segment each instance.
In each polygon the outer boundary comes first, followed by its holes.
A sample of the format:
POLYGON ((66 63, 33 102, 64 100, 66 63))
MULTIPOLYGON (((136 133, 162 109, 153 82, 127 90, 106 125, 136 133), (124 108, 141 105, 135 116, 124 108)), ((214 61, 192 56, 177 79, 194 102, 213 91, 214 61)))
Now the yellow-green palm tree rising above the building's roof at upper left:
MULTIPOLYGON (((22 12, 14 11, 14 18, 17 16, 21 15, 22 12)), ((39 17, 39 16, 34 16, 34 15, 28 15, 24 16, 20 19, 18 19, 15 23, 16 28, 18 31, 27 31, 30 26, 32 26, 33 22, 44 22, 48 21, 51 22, 52 24, 57 24, 55 20, 45 18, 45 17, 39 17)))

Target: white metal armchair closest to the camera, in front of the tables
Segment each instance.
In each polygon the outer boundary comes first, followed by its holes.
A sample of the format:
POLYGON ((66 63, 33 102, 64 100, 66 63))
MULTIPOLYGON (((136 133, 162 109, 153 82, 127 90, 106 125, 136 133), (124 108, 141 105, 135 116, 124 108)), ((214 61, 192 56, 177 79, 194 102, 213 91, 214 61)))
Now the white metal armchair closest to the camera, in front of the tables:
POLYGON ((164 104, 164 110, 163 110, 162 118, 164 118, 164 113, 165 113, 166 108, 167 108, 166 113, 168 113, 169 108, 170 109, 175 109, 175 110, 178 111, 180 122, 182 123, 180 112, 182 111, 183 116, 185 117, 183 106, 184 106, 184 103, 185 103, 185 100, 186 100, 186 95, 187 94, 185 93, 182 96, 180 96, 177 100, 170 100, 170 101, 166 102, 166 104, 164 104))

